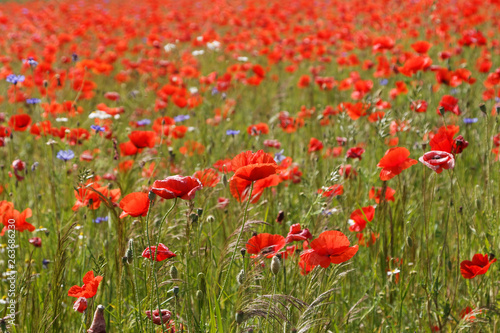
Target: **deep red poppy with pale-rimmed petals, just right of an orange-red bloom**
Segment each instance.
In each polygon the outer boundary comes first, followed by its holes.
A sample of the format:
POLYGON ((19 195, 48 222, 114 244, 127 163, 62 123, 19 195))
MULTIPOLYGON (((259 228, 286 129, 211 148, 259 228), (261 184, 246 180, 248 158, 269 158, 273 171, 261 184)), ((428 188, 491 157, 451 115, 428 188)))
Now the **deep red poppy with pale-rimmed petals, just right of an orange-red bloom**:
POLYGON ((163 180, 155 180, 151 191, 163 199, 193 200, 196 191, 202 187, 203 185, 197 178, 176 175, 163 180))

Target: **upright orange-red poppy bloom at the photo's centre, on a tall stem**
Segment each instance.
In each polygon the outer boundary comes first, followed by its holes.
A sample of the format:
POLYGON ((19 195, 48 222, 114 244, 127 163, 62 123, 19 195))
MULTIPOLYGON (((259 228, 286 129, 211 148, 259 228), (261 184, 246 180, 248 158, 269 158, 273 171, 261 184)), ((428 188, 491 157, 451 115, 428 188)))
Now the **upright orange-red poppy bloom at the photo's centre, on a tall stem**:
POLYGON ((255 153, 246 151, 236 155, 231 161, 231 168, 234 171, 231 181, 234 178, 257 181, 275 174, 278 165, 270 154, 259 150, 255 153))

